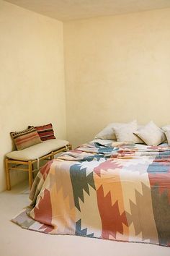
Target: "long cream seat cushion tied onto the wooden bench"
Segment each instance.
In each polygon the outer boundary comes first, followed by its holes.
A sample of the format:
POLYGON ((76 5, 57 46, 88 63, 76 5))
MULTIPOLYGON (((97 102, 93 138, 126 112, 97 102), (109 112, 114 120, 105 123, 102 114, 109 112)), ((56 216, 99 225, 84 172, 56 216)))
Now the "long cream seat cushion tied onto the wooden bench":
POLYGON ((47 155, 51 151, 58 150, 60 148, 69 145, 66 140, 46 140, 40 144, 32 145, 29 148, 24 148, 23 150, 15 150, 6 154, 7 158, 12 158, 14 160, 20 161, 30 161, 47 155))

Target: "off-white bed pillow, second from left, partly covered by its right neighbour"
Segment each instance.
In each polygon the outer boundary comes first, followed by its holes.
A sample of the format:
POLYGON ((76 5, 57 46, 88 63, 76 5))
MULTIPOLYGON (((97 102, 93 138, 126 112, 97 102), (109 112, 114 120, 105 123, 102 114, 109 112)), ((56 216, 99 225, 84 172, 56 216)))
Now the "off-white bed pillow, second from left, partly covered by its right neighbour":
POLYGON ((140 140, 138 136, 134 135, 134 132, 137 132, 137 130, 137 121, 132 121, 130 124, 126 124, 122 127, 116 127, 115 135, 117 137, 117 141, 143 143, 143 140, 140 140))

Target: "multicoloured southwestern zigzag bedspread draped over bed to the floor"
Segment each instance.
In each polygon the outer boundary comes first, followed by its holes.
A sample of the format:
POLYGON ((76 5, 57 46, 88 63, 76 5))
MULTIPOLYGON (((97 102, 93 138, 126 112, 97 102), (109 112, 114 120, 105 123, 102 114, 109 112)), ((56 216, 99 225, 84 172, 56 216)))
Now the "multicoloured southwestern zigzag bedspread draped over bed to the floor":
POLYGON ((170 148, 81 145, 41 168, 30 199, 23 228, 170 246, 170 148))

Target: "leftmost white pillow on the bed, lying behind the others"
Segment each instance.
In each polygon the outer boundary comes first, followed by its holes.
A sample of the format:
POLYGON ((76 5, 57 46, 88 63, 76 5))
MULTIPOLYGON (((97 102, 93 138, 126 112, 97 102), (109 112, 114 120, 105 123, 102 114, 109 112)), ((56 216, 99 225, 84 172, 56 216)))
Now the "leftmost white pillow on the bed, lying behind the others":
MULTIPOLYGON (((123 127, 127 125, 125 123, 111 123, 108 124, 107 127, 104 127, 101 132, 99 132, 95 139, 102 139, 102 140, 117 140, 115 135, 115 128, 123 127)), ((139 126, 140 127, 140 126, 139 126)))

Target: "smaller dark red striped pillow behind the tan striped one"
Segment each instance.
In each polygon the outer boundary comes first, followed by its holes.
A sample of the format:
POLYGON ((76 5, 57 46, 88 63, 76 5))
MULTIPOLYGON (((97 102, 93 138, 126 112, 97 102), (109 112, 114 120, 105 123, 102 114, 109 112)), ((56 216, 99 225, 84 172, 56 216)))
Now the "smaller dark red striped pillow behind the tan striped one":
POLYGON ((35 127, 35 129, 37 130, 37 133, 42 141, 55 139, 52 124, 45 124, 41 127, 35 127))

